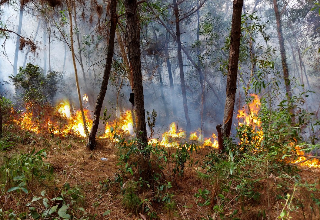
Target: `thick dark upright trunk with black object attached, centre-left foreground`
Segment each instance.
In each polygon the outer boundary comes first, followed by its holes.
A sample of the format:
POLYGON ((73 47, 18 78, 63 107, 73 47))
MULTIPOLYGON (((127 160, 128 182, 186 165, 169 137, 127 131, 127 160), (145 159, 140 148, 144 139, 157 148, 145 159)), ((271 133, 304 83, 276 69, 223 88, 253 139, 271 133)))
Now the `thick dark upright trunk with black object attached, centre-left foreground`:
POLYGON ((137 138, 141 140, 141 148, 148 142, 147 126, 143 99, 143 85, 140 54, 140 28, 137 17, 136 0, 125 0, 125 19, 127 29, 127 51, 133 76, 134 110, 137 127, 137 138))

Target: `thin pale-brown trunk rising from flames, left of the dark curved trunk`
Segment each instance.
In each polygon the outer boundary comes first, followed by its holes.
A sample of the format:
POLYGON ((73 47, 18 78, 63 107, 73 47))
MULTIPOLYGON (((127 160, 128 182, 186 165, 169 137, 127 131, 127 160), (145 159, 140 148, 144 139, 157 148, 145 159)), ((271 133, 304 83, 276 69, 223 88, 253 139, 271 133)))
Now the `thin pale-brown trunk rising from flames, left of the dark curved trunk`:
POLYGON ((81 94, 80 94, 80 87, 79 87, 78 72, 77 72, 77 66, 76 66, 75 51, 74 51, 74 47, 73 47, 73 27, 72 27, 72 13, 71 13, 72 4, 70 4, 69 1, 70 0, 67 1, 67 4, 68 4, 67 7, 68 7, 69 19, 70 19, 70 43, 71 43, 72 62, 73 62, 73 67, 75 69, 76 87, 77 87, 80 110, 81 110, 81 115, 82 115, 83 129, 84 129, 84 133, 88 136, 88 129, 87 129, 87 125, 85 123, 85 116, 84 116, 82 100, 81 100, 81 94))

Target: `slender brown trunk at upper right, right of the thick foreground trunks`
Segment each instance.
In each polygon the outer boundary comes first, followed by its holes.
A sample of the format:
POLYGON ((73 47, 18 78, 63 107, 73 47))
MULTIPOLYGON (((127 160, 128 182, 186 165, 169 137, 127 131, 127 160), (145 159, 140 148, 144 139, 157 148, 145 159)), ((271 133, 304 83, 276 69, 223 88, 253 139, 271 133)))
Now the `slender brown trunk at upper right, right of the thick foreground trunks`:
POLYGON ((281 63, 282 63, 282 68, 283 68, 285 91, 288 94, 288 98, 291 99, 292 91, 291 91, 291 86, 290 86, 287 57, 286 57, 285 49, 284 49, 284 39, 283 39, 283 35, 282 35, 281 19, 280 19, 280 14, 279 14, 279 10, 278 10, 277 0, 273 0, 273 7, 275 10, 275 14, 276 14, 277 32, 278 32, 279 45, 280 45, 280 54, 281 54, 281 63))

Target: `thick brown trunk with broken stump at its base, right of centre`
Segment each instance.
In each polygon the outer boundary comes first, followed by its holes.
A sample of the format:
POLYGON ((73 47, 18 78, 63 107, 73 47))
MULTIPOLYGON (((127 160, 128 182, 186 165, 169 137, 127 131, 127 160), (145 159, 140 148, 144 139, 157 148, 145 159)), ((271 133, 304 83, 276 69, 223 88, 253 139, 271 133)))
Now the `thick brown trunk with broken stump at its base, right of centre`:
POLYGON ((233 110, 236 101, 237 72, 240 52, 241 36, 241 11, 243 0, 233 1, 233 13, 230 36, 229 65, 226 89, 226 104, 224 107, 224 117, 222 125, 217 125, 219 150, 223 150, 223 137, 228 137, 231 131, 233 110))

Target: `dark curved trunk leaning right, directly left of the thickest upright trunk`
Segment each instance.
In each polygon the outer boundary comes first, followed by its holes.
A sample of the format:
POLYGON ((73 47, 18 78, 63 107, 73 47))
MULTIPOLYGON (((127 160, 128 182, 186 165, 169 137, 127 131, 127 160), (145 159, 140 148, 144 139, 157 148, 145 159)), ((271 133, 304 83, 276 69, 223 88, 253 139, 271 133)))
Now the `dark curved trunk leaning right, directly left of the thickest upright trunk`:
POLYGON ((109 36, 109 45, 108 45, 108 53, 106 59, 106 67, 104 69, 102 85, 100 88, 100 93, 97 97, 96 106, 94 108, 94 117, 92 122, 91 131, 89 134, 89 140, 87 144, 87 148, 93 150, 96 146, 96 133, 99 125, 100 112, 102 108, 102 103, 104 97, 106 95, 108 81, 111 71, 111 64, 114 52, 114 43, 115 43, 115 35, 116 35, 116 26, 117 26, 117 14, 116 14, 116 1, 110 1, 110 36, 109 36))

